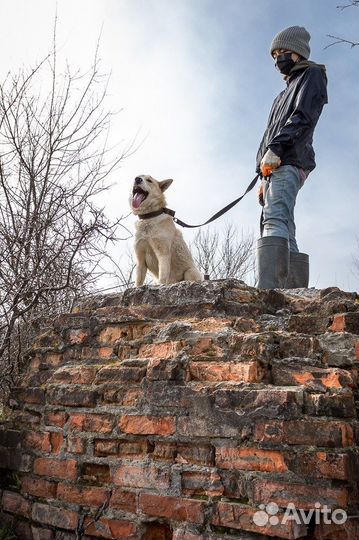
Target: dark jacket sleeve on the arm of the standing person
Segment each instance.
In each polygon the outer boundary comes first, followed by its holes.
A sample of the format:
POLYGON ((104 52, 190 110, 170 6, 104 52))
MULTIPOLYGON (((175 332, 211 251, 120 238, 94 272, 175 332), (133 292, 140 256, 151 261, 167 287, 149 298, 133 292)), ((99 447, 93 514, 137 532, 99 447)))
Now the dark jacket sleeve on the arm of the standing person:
POLYGON ((305 136, 308 129, 315 127, 327 101, 325 74, 320 68, 308 68, 296 96, 292 114, 268 147, 282 157, 286 147, 294 145, 305 136))

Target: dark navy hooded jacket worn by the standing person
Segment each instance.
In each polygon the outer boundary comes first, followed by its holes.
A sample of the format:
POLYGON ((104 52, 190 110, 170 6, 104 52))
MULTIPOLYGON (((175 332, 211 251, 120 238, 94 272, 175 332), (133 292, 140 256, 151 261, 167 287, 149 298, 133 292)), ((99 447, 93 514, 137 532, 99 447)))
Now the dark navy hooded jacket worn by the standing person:
POLYGON ((315 168, 313 133, 325 103, 325 67, 306 60, 298 62, 289 75, 287 88, 272 105, 257 153, 257 172, 268 148, 280 157, 281 165, 295 165, 307 172, 315 168))

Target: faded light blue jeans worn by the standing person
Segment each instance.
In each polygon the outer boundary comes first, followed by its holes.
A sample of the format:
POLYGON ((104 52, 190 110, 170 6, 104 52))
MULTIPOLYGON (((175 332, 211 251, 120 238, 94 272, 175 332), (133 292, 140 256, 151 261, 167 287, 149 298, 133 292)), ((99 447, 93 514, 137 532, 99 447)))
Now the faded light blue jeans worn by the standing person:
POLYGON ((289 250, 299 252, 295 239, 294 207, 305 180, 303 171, 282 165, 264 182, 263 236, 280 236, 289 241, 289 250))

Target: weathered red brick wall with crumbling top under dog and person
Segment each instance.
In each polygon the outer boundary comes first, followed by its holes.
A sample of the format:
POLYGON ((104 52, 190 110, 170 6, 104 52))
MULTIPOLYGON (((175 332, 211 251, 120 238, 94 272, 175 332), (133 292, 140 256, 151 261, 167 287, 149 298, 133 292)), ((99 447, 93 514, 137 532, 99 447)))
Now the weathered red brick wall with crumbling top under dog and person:
POLYGON ((12 392, 0 523, 22 540, 358 537, 355 518, 283 520, 289 503, 358 514, 358 334, 358 298, 336 288, 84 303, 12 392))

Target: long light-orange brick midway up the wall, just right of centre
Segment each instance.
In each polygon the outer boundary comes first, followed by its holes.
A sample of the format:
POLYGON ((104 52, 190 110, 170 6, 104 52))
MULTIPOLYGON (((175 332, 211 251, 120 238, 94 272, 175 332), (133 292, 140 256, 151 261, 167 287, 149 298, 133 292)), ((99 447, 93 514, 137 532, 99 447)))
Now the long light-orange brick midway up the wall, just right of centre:
POLYGON ((189 375, 195 381, 260 382, 263 377, 255 360, 251 362, 190 362, 189 375))

